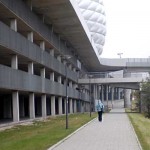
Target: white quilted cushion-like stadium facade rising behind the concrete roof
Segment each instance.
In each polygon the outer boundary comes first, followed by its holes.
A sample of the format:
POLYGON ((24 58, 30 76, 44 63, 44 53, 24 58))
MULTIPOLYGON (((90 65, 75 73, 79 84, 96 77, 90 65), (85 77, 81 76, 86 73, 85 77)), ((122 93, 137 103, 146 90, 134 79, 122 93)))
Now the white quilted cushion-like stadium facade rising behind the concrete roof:
POLYGON ((103 51, 106 18, 102 0, 76 0, 99 54, 103 51))

